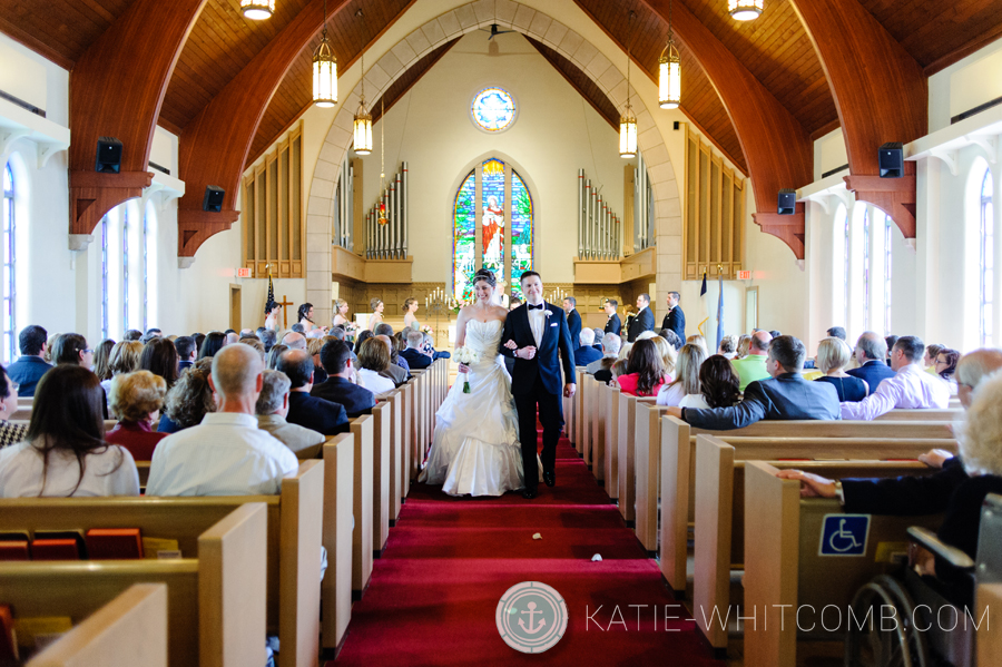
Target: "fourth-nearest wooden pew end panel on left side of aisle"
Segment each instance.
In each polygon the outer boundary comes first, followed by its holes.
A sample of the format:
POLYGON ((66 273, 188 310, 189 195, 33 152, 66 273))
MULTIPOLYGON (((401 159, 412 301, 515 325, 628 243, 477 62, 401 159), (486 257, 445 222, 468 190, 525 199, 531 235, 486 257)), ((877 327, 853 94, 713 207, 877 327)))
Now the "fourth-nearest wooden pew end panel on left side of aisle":
POLYGON ((325 650, 341 646, 352 617, 354 461, 354 433, 342 433, 324 443, 323 543, 327 571, 321 582, 321 630, 325 650))

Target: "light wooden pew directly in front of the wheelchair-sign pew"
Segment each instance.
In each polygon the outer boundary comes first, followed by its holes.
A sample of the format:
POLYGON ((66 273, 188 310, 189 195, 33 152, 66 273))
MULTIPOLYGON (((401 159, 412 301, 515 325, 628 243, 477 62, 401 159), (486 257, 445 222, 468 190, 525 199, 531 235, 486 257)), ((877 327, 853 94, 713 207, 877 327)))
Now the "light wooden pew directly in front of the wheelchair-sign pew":
MULTIPOLYGON (((915 441, 900 441, 893 448, 895 458, 916 458, 929 448, 915 441), (911 450, 911 451, 910 451, 911 450)), ((812 443, 817 444, 817 443, 812 443)), ((813 447, 789 448, 784 458, 809 455, 813 447)), ((696 609, 728 609, 730 570, 741 569, 745 552, 745 465, 746 452, 713 435, 699 435, 696 442, 696 504, 698 531, 695 548, 695 580, 692 601, 696 609)), ((851 477, 893 478, 927 474, 932 471, 918 461, 882 461, 881 452, 871 460, 852 461, 775 461, 776 469, 795 468, 831 479, 851 477)), ((727 631, 719 624, 708 622, 705 615, 696 615, 696 625, 718 651, 727 648, 727 631)))

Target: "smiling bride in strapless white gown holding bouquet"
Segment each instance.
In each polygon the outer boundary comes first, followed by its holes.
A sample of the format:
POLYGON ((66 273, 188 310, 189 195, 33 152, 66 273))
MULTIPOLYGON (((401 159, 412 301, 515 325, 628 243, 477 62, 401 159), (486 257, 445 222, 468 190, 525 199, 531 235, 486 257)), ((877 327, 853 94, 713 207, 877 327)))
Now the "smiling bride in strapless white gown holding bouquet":
POLYGON ((466 376, 456 379, 435 413, 435 439, 420 477, 450 496, 501 496, 524 485, 511 377, 498 354, 508 311, 493 304, 494 287, 490 271, 473 276, 477 302, 460 311, 455 344, 477 350, 480 362, 460 366, 466 376))

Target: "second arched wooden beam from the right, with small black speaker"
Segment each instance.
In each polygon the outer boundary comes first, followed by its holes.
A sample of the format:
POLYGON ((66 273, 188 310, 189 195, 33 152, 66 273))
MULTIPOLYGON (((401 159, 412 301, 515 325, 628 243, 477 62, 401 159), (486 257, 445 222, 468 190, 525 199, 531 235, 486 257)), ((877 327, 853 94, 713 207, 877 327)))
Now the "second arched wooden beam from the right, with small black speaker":
MULTIPOLYGON (((668 0, 645 0, 665 21, 668 0)), ((794 215, 778 215, 782 188, 798 188, 814 179, 811 137, 796 118, 769 92, 727 47, 681 2, 675 2, 671 27, 691 51, 720 96, 734 124, 755 195, 753 214, 762 230, 782 239, 797 259, 804 258, 804 205, 794 215)), ((685 91, 682 91, 685 104, 685 91)))

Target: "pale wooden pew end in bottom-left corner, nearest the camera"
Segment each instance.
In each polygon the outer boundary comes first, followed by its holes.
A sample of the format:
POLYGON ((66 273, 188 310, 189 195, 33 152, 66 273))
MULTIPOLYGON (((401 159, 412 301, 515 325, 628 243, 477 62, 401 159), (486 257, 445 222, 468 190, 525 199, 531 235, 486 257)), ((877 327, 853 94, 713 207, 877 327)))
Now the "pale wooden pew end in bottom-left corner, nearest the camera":
POLYGON ((167 585, 134 583, 28 667, 167 667, 167 585))

